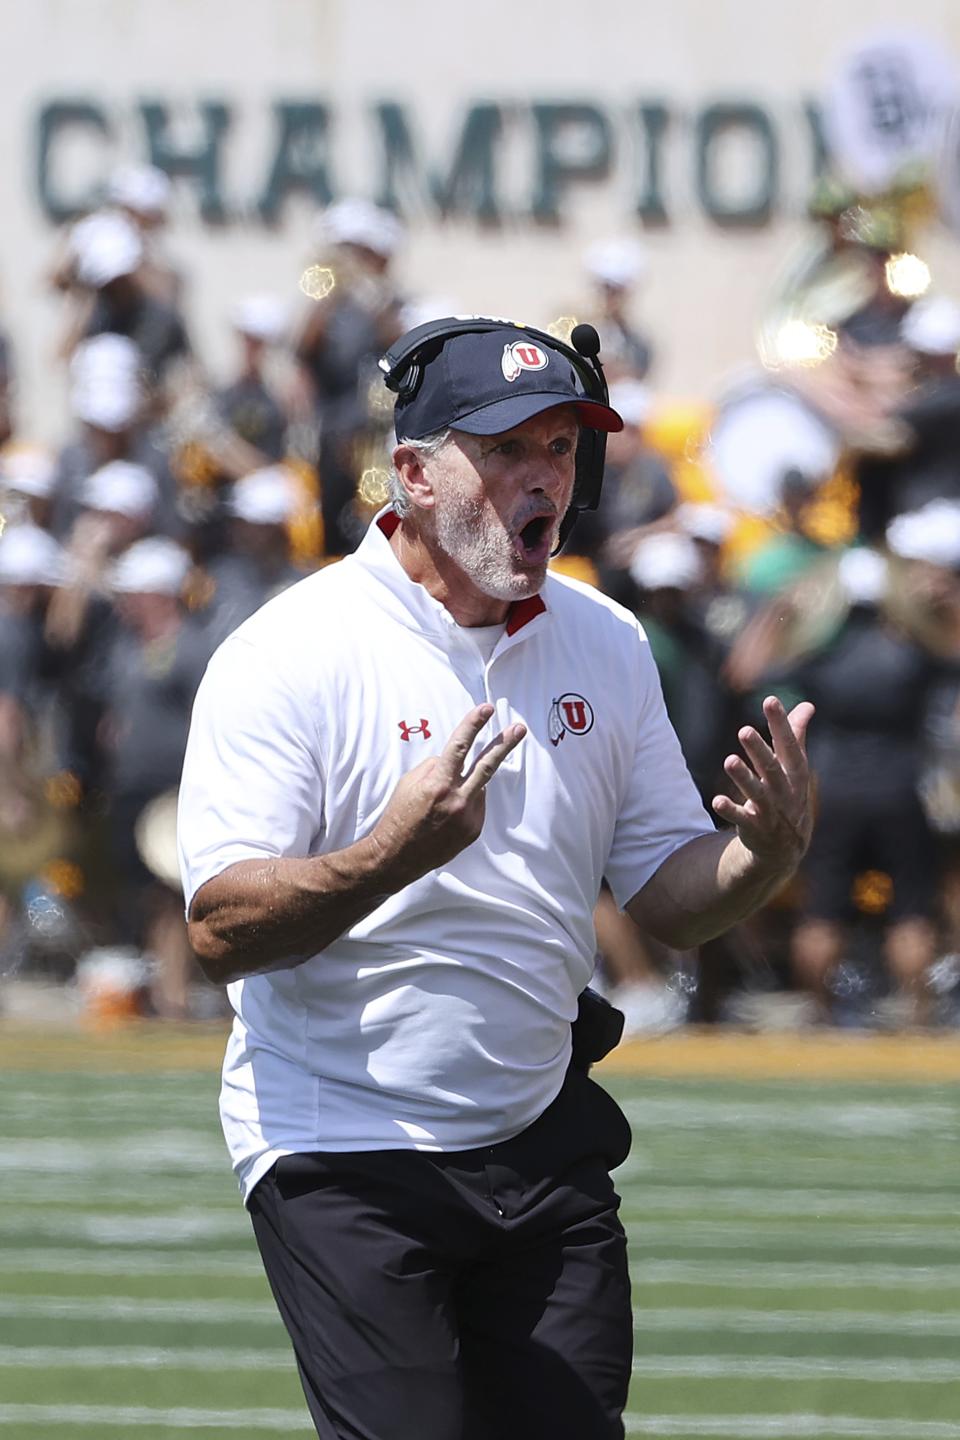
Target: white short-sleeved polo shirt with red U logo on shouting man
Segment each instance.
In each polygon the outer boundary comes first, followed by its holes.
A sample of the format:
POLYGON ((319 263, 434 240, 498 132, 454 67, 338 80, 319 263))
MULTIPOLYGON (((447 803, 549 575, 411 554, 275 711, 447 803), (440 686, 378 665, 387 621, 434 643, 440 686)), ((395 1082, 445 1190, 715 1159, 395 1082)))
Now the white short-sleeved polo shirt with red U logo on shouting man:
POLYGON ((210 661, 180 789, 187 904, 236 861, 368 834, 475 704, 495 707, 478 749, 528 733, 486 786, 479 840, 321 953, 229 986, 220 1109, 245 1195, 291 1152, 522 1130, 563 1083, 602 878, 623 906, 712 829, 628 611, 551 575, 485 660, 399 564, 396 523, 381 513, 210 661))

